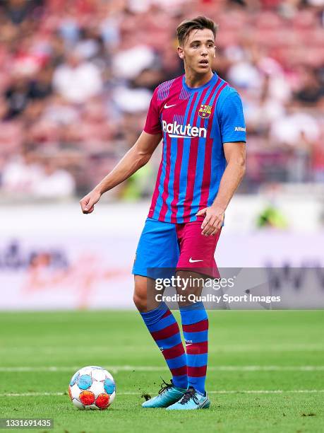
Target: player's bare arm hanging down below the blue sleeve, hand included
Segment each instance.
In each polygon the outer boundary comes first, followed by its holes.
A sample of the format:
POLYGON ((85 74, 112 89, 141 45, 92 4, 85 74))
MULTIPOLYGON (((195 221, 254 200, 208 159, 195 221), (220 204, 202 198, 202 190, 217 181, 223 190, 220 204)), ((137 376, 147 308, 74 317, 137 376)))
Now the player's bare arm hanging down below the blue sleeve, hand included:
POLYGON ((217 196, 210 207, 205 207, 197 213, 198 216, 205 215, 201 225, 201 233, 205 236, 214 236, 222 227, 225 210, 241 183, 246 169, 245 142, 224 143, 223 146, 227 167, 220 180, 217 196))

